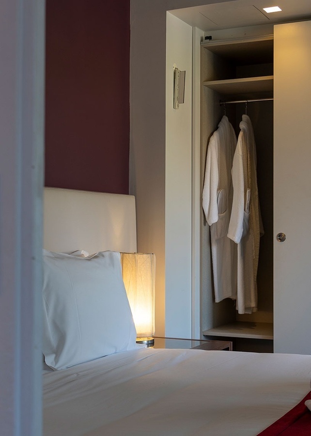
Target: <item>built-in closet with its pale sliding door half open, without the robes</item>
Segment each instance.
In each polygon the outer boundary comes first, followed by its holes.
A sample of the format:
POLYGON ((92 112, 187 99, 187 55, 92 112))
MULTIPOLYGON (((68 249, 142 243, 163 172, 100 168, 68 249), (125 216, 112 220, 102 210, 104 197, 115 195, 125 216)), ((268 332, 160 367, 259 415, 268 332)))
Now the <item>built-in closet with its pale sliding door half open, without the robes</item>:
MULTIPOLYGON (((201 44, 202 156, 224 113, 238 135, 247 111, 257 147, 264 224, 258 311, 238 315, 233 300, 215 303, 211 293, 203 297, 208 308, 203 335, 233 339, 235 349, 311 353, 310 41, 311 22, 305 21, 276 25, 273 35, 201 44)), ((204 268, 211 268, 204 261, 208 241, 203 223, 203 286, 204 268)))

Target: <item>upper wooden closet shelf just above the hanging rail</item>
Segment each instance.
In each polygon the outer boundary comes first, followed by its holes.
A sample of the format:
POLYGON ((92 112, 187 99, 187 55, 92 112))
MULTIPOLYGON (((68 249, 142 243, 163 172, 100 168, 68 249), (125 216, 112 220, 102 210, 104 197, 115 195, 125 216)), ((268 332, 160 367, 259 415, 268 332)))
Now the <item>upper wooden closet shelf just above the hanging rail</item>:
POLYGON ((262 93, 273 91, 273 76, 211 80, 203 82, 203 85, 225 95, 262 93))

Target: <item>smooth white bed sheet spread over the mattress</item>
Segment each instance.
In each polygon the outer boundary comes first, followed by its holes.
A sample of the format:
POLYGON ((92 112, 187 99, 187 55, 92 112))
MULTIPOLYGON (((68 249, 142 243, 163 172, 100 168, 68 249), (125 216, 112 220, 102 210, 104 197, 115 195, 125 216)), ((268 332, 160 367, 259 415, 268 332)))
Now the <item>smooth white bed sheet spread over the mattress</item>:
POLYGON ((143 348, 43 378, 44 436, 252 436, 308 393, 311 356, 143 348))

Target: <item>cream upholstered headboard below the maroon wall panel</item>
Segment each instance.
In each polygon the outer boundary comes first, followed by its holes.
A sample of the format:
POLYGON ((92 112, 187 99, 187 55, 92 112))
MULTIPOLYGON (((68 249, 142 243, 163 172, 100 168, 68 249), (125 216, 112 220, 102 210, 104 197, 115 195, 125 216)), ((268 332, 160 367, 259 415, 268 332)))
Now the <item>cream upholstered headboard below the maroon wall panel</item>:
POLYGON ((43 222, 49 251, 137 251, 132 195, 46 187, 43 222))

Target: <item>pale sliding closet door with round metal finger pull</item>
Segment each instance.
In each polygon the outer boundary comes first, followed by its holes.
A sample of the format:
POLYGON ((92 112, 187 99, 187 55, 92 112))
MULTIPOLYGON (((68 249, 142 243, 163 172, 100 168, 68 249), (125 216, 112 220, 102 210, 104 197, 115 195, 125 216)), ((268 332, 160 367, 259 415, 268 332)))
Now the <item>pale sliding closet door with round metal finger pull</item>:
POLYGON ((275 26, 274 53, 274 349, 311 354, 311 21, 275 26))

